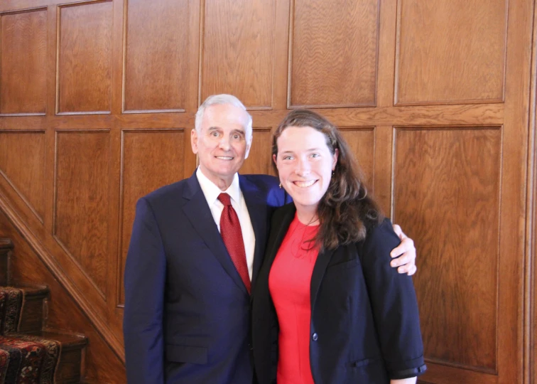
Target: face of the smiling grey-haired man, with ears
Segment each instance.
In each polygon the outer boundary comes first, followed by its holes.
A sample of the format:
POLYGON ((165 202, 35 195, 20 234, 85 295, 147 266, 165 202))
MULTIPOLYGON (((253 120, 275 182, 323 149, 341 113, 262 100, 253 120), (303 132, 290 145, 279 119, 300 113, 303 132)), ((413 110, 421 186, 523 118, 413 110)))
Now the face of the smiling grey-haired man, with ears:
POLYGON ((200 132, 192 129, 190 142, 200 170, 217 186, 222 187, 222 181, 229 186, 248 156, 247 122, 246 112, 234 105, 211 105, 203 114, 200 132))

